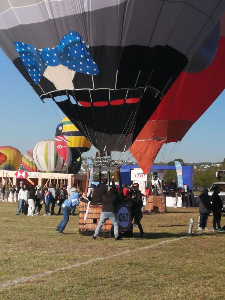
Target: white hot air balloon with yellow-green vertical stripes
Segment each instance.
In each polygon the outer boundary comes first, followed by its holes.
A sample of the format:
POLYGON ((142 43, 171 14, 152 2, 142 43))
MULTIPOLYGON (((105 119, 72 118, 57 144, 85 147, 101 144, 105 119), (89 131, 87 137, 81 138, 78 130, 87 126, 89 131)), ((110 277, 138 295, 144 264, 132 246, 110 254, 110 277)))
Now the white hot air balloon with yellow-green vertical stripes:
MULTIPOLYGON (((66 171, 65 160, 61 158, 55 149, 54 140, 38 142, 33 149, 33 158, 39 170, 45 173, 62 173, 66 171)), ((67 147, 67 163, 70 165, 72 154, 67 147)))

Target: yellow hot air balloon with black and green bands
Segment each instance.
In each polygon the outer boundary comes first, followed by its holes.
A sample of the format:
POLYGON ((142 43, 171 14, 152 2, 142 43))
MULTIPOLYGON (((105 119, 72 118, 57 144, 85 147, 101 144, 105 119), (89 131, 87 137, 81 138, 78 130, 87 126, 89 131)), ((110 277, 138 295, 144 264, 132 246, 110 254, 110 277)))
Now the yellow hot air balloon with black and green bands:
POLYGON ((62 119, 60 124, 56 127, 55 136, 59 135, 67 137, 67 145, 72 152, 72 162, 76 161, 81 153, 91 148, 91 144, 87 138, 84 137, 67 117, 62 119))

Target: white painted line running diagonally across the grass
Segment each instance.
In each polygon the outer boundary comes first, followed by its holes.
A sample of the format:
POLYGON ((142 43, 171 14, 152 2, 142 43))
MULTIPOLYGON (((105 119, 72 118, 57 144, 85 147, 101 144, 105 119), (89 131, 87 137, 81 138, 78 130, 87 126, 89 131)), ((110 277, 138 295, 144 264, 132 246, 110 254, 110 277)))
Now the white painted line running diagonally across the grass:
POLYGON ((46 271, 46 272, 39 273, 39 274, 36 274, 36 275, 32 275, 32 276, 29 276, 29 277, 21 277, 21 278, 16 279, 16 280, 12 280, 12 281, 9 281, 9 282, 6 282, 6 283, 1 283, 0 288, 4 288, 4 287, 7 287, 7 286, 10 286, 10 285, 13 285, 13 284, 21 283, 23 281, 29 281, 31 279, 37 279, 37 278, 40 278, 40 277, 43 277, 43 276, 52 275, 52 274, 55 274, 57 272, 67 271, 67 270, 70 270, 72 268, 79 267, 81 265, 88 265, 89 263, 92 263, 92 262, 98 262, 100 260, 110 259, 110 258, 120 256, 120 255, 124 255, 124 254, 127 254, 127 253, 132 253, 132 252, 136 252, 136 251, 140 251, 140 250, 154 248, 154 247, 157 247, 159 245, 163 245, 163 244, 167 244, 167 243, 170 243, 170 242, 178 241, 182 238, 186 238, 187 236, 182 236, 180 238, 173 238, 173 239, 165 240, 165 241, 162 241, 158 244, 153 244, 153 245, 150 245, 150 246, 145 246, 145 247, 134 249, 134 250, 127 250, 127 251, 116 253, 116 254, 113 254, 113 255, 110 255, 110 256, 92 258, 92 259, 87 260, 86 262, 78 262, 74 265, 69 265, 67 267, 58 268, 58 269, 55 269, 53 271, 46 271))

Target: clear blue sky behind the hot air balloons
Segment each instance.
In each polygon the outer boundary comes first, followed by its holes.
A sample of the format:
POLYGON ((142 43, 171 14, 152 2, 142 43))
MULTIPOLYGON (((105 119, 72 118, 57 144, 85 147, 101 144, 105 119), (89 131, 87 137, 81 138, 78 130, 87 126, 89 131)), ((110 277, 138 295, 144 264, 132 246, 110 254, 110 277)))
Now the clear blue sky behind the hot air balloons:
MULTIPOLYGON (((53 101, 46 100, 46 104, 43 104, 1 49, 0 66, 0 146, 13 146, 24 154, 33 149, 38 141, 54 139, 56 125, 64 115, 53 101)), ((182 158, 187 163, 223 161, 225 158, 224 119, 225 91, 192 126, 181 143, 164 145, 156 162, 159 163, 162 158, 163 161, 182 158), (172 150, 176 150, 174 155, 172 150)), ((94 155, 95 149, 84 153, 84 156, 94 155)), ((119 158, 119 156, 114 157, 119 158)), ((128 159, 129 156, 131 157, 131 154, 127 152, 123 159, 128 159)))

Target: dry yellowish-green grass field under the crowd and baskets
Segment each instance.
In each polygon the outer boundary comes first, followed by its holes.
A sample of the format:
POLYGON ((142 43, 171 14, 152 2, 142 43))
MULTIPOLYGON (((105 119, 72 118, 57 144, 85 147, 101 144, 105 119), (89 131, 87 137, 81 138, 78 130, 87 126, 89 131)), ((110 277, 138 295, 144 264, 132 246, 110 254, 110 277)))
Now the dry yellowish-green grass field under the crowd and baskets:
POLYGON ((16 208, 0 202, 0 299, 225 299, 225 235, 197 232, 197 208, 145 215, 145 239, 135 228, 122 241, 79 235, 78 215, 59 235, 62 216, 16 216, 16 208))

